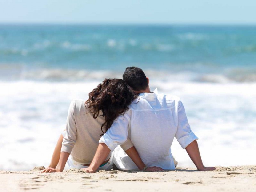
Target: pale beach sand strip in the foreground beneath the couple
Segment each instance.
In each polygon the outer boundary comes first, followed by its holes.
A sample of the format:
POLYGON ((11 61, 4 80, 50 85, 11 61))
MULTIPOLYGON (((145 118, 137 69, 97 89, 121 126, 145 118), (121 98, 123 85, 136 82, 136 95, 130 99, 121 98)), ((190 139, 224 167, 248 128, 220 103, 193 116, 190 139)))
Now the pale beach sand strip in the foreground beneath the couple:
POLYGON ((172 171, 99 171, 79 169, 62 173, 0 171, 0 191, 256 191, 256 165, 220 167, 200 172, 192 168, 172 171))

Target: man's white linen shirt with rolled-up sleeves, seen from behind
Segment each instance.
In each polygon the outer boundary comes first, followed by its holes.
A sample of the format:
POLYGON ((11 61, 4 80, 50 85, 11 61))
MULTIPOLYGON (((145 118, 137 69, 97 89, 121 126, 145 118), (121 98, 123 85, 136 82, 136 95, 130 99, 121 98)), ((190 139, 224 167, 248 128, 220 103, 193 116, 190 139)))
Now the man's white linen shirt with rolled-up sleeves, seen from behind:
MULTIPOLYGON (((198 139, 190 129, 180 98, 158 94, 157 89, 153 93, 140 93, 129 110, 113 122, 99 143, 105 143, 114 151, 128 136, 147 166, 163 169, 175 169, 170 149, 174 137, 182 148, 198 139)), ((118 149, 116 153, 118 168, 137 169, 123 151, 118 149)))

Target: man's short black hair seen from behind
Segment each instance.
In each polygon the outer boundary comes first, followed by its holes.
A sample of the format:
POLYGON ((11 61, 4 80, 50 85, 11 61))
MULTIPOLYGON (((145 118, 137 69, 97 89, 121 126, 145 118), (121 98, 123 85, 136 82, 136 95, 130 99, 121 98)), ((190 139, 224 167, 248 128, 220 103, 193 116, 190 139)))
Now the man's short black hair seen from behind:
POLYGON ((138 67, 127 67, 123 74, 123 80, 134 90, 141 91, 148 87, 145 73, 138 67))

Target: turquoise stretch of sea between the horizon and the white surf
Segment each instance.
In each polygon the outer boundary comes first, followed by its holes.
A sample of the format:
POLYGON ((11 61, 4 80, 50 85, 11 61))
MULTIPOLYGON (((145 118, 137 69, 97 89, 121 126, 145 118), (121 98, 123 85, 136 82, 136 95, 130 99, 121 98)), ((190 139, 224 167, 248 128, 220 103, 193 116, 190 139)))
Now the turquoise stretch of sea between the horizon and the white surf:
POLYGON ((256 26, 0 25, 1 78, 67 80, 70 69, 120 73, 139 66, 192 72, 191 80, 213 73, 256 81, 255 34, 256 26))

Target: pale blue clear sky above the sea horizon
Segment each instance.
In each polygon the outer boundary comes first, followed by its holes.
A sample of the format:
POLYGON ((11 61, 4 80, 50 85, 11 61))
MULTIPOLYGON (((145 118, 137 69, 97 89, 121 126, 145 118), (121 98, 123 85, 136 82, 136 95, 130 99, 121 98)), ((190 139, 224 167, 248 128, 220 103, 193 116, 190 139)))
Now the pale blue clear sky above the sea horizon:
POLYGON ((255 0, 0 0, 0 23, 256 24, 255 0))

